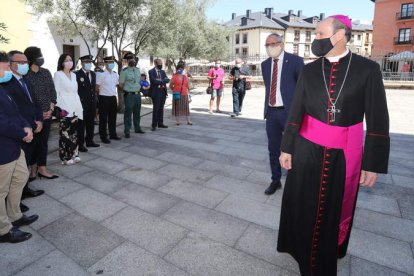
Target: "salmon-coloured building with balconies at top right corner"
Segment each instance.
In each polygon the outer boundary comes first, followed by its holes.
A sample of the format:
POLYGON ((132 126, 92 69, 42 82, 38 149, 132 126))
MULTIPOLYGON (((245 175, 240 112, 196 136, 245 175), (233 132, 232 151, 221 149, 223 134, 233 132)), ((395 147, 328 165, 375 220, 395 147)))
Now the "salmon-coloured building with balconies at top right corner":
POLYGON ((414 52, 414 1, 375 2, 373 50, 379 59, 404 51, 414 52))

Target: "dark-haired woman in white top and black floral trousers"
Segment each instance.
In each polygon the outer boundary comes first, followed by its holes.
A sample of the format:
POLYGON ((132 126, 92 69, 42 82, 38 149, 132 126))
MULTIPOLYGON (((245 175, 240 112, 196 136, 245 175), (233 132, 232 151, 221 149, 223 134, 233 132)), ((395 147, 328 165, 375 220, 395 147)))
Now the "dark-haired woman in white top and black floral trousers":
POLYGON ((78 151, 77 124, 78 120, 83 119, 83 109, 73 69, 73 58, 69 54, 62 54, 58 60, 58 71, 53 77, 57 94, 56 106, 60 108, 59 157, 64 165, 72 165, 81 161, 78 151))

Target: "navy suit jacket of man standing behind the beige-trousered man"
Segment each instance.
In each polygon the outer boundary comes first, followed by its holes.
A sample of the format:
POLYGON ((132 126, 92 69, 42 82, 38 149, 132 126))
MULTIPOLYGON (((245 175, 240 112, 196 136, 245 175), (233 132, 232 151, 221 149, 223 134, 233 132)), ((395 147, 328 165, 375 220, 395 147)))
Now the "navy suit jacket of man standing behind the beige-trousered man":
POLYGON ((30 124, 32 129, 36 129, 35 121, 43 121, 43 112, 36 96, 33 92, 32 83, 24 78, 27 90, 29 91, 30 98, 27 96, 20 81, 15 76, 7 82, 3 83, 4 89, 7 94, 13 98, 17 107, 19 108, 20 115, 30 124))

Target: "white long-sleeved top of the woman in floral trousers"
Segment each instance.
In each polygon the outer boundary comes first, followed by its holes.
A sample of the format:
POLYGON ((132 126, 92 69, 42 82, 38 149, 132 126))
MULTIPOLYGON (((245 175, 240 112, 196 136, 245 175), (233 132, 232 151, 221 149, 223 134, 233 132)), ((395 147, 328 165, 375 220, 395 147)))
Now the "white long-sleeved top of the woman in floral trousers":
POLYGON ((63 71, 57 71, 53 77, 56 88, 56 105, 69 114, 68 117, 77 116, 83 120, 83 108, 78 95, 76 75, 70 72, 70 79, 63 71))

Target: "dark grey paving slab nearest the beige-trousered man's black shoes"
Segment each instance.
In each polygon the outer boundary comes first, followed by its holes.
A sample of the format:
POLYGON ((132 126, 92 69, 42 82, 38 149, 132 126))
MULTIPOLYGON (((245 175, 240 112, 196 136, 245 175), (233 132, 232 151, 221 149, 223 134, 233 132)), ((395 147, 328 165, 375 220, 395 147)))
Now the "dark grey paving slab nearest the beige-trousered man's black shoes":
POLYGON ((83 268, 90 267, 119 246, 124 239, 78 214, 70 214, 39 233, 83 268))

